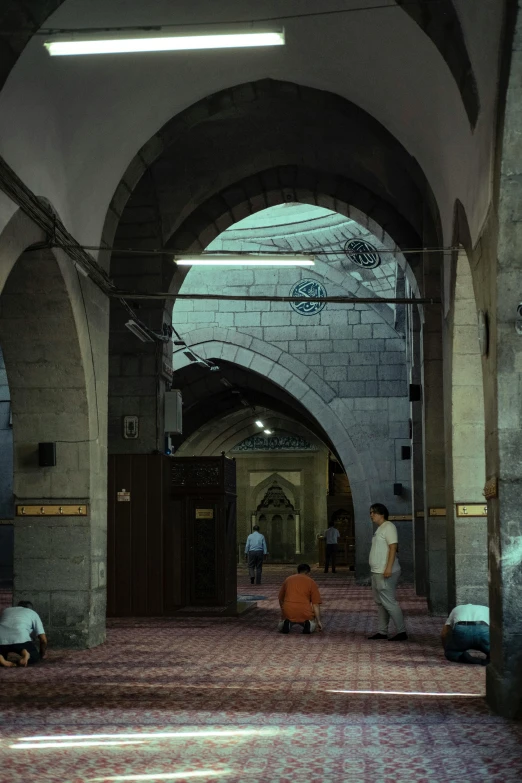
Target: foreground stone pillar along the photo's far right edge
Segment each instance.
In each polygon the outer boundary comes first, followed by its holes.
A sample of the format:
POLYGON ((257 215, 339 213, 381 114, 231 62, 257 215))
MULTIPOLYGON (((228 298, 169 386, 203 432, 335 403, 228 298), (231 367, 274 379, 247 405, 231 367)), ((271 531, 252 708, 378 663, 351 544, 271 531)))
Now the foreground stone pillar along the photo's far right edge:
MULTIPOLYGON (((490 479, 496 478, 498 485, 498 493, 494 493, 498 497, 488 502, 491 664, 486 670, 486 692, 489 704, 501 715, 511 718, 522 716, 522 334, 518 312, 522 302, 520 6, 519 2, 502 139, 496 280, 493 276, 491 279, 492 289, 496 286, 496 290, 488 364, 492 365, 490 377, 496 395, 486 398, 487 473, 490 479)), ((492 265, 494 258, 493 255, 492 265)))

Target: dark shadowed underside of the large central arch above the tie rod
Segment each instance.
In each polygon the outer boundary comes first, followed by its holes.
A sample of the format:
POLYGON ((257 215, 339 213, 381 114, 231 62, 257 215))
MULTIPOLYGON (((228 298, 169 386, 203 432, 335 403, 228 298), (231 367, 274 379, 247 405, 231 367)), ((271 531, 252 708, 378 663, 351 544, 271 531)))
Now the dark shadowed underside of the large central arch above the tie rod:
MULTIPOLYGON (((264 79, 199 101, 142 147, 111 201, 103 244, 152 249, 161 237, 186 251, 204 229, 210 240, 244 217, 245 201, 255 212, 303 191, 334 210, 332 201, 357 208, 403 248, 440 243, 429 183, 380 123, 335 94, 264 79)), ((127 259, 116 260, 118 274, 127 259)), ((163 279, 169 271, 157 266, 163 279)))

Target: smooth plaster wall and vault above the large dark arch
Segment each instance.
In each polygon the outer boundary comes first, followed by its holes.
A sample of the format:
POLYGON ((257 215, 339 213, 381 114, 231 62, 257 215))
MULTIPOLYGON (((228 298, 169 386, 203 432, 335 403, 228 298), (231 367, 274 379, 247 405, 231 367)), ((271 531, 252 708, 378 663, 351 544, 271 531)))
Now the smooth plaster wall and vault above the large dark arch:
MULTIPOLYGON (((390 5, 394 4, 390 1, 390 5)), ((0 147, 33 191, 54 204, 80 242, 98 244, 110 198, 129 161, 170 117, 240 81, 284 79, 337 93, 378 119, 419 161, 436 194, 447 232, 453 198, 458 195, 468 207, 476 236, 490 198, 502 5, 484 0, 480 8, 473 9, 473 19, 459 5, 473 64, 483 63, 479 75, 482 112, 474 133, 438 50, 412 19, 392 7, 288 20, 285 47, 239 54, 50 58, 42 39, 33 38, 0 95, 0 147), (303 57, 303 52, 316 50, 318 41, 327 42, 321 56, 303 57), (135 111, 136 105, 140 112, 135 111), (16 134, 11 132, 13 126, 16 134), (38 143, 35 127, 39 128, 38 143)), ((277 15, 286 9, 295 11, 290 0, 273 5, 277 15)), ((299 10, 316 10, 316 4, 305 0, 299 10)), ((147 4, 136 0, 124 6, 68 0, 46 24, 69 28, 121 25, 123 12, 126 25, 161 24, 172 18, 172 5, 166 0, 147 4)), ((237 19, 238 14, 255 18, 256 12, 258 5, 252 0, 240 9, 232 0, 219 8, 210 0, 200 0, 190 6, 178 4, 176 21, 217 22, 237 19)))

